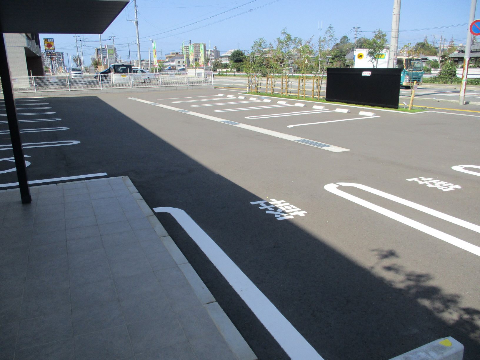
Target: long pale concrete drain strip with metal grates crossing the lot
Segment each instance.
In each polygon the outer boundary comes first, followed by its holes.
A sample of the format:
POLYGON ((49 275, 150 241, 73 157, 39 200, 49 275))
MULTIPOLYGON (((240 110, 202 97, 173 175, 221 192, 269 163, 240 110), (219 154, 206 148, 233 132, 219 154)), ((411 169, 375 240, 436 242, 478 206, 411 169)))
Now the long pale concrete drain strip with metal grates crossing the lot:
POLYGON ((304 145, 318 147, 318 148, 321 148, 323 150, 332 151, 334 153, 349 151, 349 149, 346 149, 344 147, 325 144, 325 143, 320 143, 320 142, 317 142, 317 141, 304 139, 304 138, 301 138, 301 137, 298 137, 298 136, 284 134, 283 132, 276 132, 276 131, 273 131, 273 130, 267 130, 267 129, 259 128, 257 126, 242 124, 242 123, 236 122, 236 121, 230 121, 230 120, 226 120, 226 119, 222 119, 222 118, 217 118, 215 116, 201 114, 199 112, 183 110, 183 109, 180 109, 180 108, 174 108, 174 107, 169 106, 169 105, 157 104, 157 103, 154 103, 152 101, 137 99, 136 97, 127 97, 127 99, 140 101, 140 102, 143 102, 145 104, 157 106, 157 107, 160 107, 160 108, 166 108, 168 110, 178 111, 178 112, 181 112, 181 113, 186 114, 186 115, 192 115, 192 116, 196 116, 196 117, 207 119, 207 120, 213 120, 213 121, 221 122, 223 124, 227 124, 227 125, 230 125, 230 126, 235 126, 235 127, 238 127, 238 128, 242 128, 242 129, 246 129, 246 130, 250 130, 250 131, 254 131, 254 132, 260 132, 260 133, 270 135, 270 136, 274 136, 274 137, 277 137, 277 138, 280 138, 280 139, 285 139, 285 140, 293 141, 293 142, 304 144, 304 145))

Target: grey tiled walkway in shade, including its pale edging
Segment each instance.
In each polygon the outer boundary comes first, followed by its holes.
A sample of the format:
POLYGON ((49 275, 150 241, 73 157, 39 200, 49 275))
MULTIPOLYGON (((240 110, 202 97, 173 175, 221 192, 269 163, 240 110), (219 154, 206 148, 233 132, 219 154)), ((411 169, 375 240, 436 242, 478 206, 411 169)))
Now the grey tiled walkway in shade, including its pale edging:
POLYGON ((256 359, 132 182, 0 191, 0 360, 256 359))

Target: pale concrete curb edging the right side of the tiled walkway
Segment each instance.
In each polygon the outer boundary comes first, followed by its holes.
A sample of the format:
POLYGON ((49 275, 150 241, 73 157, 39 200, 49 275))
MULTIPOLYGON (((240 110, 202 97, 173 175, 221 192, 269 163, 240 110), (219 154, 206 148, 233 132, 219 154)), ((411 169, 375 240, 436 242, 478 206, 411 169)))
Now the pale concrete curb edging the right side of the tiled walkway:
POLYGON ((168 252, 180 268, 183 275, 186 277, 187 281, 193 289, 193 292, 210 315, 218 331, 227 342, 230 350, 233 352, 233 354, 237 357, 238 360, 257 360, 257 357, 253 353, 250 346, 241 336, 235 325, 230 321, 227 314, 216 302, 210 290, 208 290, 200 276, 198 276, 192 265, 188 262, 187 258, 180 251, 179 247, 168 235, 168 232, 162 226, 158 218, 154 215, 152 209, 147 205, 147 203, 145 203, 140 193, 137 191, 135 186, 133 186, 130 178, 128 176, 123 176, 121 178, 132 194, 138 194, 137 197, 139 197, 139 199, 136 200, 138 206, 147 216, 148 221, 150 222, 150 224, 152 224, 158 237, 167 248, 168 252))

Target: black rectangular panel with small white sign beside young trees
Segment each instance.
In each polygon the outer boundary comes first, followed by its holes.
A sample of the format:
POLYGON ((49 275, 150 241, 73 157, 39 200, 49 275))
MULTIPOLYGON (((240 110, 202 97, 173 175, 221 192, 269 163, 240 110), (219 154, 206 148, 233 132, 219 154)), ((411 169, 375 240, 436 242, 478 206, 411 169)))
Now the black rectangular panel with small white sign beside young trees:
POLYGON ((326 101, 398 108, 401 69, 327 68, 326 101))

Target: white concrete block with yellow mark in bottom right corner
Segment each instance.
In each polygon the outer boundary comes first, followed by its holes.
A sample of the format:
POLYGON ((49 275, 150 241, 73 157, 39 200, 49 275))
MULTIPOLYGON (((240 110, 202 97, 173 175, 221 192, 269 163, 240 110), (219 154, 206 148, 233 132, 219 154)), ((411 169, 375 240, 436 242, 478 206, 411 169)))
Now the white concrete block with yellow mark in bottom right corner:
POLYGON ((390 360, 462 360, 463 345, 453 337, 443 337, 390 360))

